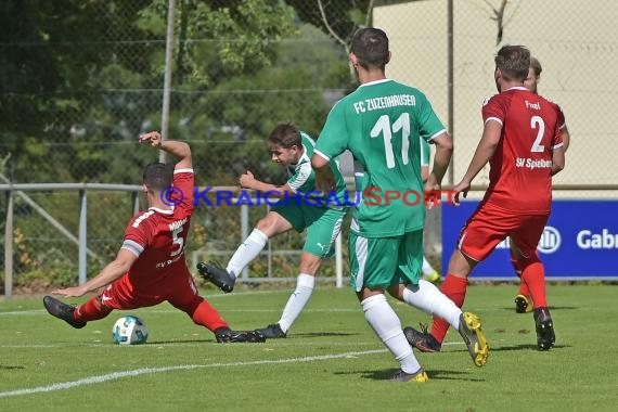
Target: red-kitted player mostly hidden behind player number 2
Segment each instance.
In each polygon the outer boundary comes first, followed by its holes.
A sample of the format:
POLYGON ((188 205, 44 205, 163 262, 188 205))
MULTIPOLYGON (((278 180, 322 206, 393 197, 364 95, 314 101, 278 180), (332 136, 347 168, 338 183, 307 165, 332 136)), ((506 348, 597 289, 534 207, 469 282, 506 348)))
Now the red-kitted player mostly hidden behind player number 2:
MULTIPOLYGON (((530 57, 530 69, 528 70, 528 77, 524 80, 524 87, 530 90, 532 93, 538 93, 537 87, 539 81, 541 81, 541 72, 543 67, 541 66, 541 62, 539 62, 535 57, 530 57)), ((562 138, 563 138, 563 147, 566 153, 569 142, 570 142, 570 134, 565 121, 565 115, 561 107, 556 104, 556 110, 558 112, 558 125, 562 130, 562 138)), ((517 273, 517 276, 522 278, 522 270, 517 267, 517 261, 519 260, 519 250, 514 242, 510 242, 511 248, 511 263, 517 273)), ((535 309, 535 305, 532 301, 532 297, 530 296, 530 291, 528 288, 528 284, 524 281, 519 283, 519 291, 517 292, 517 296, 515 296, 515 312, 517 313, 528 313, 535 309)))

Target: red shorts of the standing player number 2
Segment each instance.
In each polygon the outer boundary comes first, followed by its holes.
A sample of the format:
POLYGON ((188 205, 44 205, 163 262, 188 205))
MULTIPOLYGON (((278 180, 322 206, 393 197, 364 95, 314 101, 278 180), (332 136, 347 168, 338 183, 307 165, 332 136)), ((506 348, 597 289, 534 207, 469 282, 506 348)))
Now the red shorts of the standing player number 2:
POLYGON ((463 227, 458 248, 467 257, 481 261, 500 242, 510 236, 522 256, 529 259, 537 254, 537 245, 549 218, 550 213, 526 215, 482 203, 463 227))

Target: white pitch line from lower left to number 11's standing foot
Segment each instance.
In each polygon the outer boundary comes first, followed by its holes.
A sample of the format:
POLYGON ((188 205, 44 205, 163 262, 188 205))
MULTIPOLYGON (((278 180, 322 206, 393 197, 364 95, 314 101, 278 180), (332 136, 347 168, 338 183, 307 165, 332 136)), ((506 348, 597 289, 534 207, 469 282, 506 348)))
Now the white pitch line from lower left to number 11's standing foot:
POLYGON ((101 384, 104 382, 120 379, 129 376, 139 376, 139 375, 168 372, 168 371, 190 371, 193 369, 203 369, 203 368, 250 366, 256 364, 302 363, 302 362, 312 362, 320 360, 349 358, 349 357, 357 357, 363 355, 384 353, 386 351, 387 351, 386 349, 375 349, 375 350, 364 350, 364 351, 346 352, 337 355, 323 355, 319 357, 288 358, 288 359, 279 359, 279 360, 260 360, 260 361, 250 361, 250 362, 210 363, 210 364, 185 364, 185 365, 165 366, 165 368, 142 368, 142 369, 136 369, 133 371, 114 372, 114 373, 108 373, 106 375, 86 377, 83 379, 78 379, 73 382, 63 382, 60 384, 52 384, 49 386, 39 386, 29 389, 16 389, 16 390, 3 391, 0 392, 0 398, 21 396, 21 395, 33 395, 40 392, 51 392, 55 390, 70 389, 83 385, 101 384))

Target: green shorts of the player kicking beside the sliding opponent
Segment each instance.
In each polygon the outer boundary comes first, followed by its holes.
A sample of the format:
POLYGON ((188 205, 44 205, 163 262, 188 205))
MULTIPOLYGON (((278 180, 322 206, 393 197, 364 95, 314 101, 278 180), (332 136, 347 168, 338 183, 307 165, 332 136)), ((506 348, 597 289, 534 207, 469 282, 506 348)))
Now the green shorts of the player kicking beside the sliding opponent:
POLYGON ((324 258, 335 254, 335 239, 342 231, 347 209, 330 209, 311 205, 273 206, 272 211, 281 215, 297 232, 307 230, 302 252, 324 258))

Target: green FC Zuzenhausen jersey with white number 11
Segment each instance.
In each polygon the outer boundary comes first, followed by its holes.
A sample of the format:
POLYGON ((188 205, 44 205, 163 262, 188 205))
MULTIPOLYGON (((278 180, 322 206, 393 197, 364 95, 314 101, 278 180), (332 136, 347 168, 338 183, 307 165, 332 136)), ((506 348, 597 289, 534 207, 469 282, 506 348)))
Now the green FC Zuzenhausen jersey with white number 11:
POLYGON ((423 228, 420 142, 445 130, 420 90, 389 79, 361 85, 335 104, 314 151, 331 159, 347 149, 364 169, 355 233, 384 237, 423 228))

